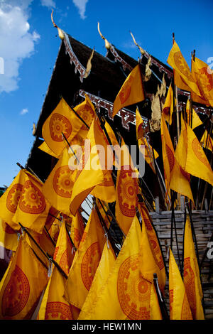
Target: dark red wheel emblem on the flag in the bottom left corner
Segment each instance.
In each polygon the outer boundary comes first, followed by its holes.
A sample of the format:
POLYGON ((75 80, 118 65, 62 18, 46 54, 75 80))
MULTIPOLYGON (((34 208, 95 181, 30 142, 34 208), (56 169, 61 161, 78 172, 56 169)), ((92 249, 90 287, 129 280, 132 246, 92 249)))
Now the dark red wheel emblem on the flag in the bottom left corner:
POLYGON ((26 275, 16 265, 11 279, 6 285, 1 302, 1 312, 4 317, 13 317, 26 306, 30 294, 30 285, 26 275))

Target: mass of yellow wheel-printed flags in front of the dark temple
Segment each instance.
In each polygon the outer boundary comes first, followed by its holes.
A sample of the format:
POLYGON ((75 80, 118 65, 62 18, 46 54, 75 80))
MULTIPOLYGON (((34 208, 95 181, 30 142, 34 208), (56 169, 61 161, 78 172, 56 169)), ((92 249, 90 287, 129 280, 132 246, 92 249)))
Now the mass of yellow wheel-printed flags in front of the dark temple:
MULTIPOLYGON (((140 65, 137 65, 115 99, 113 115, 143 99, 140 65)), ((212 183, 212 175, 199 141, 183 120, 179 146, 173 149, 166 124, 171 124, 172 115, 170 87, 161 118, 166 189, 168 193, 173 189, 193 200, 187 176, 187 173, 197 176, 192 158, 204 165, 198 177, 212 183)), ((107 122, 104 126, 111 143, 119 145, 111 126, 107 122)), ((159 155, 146 139, 138 109, 136 134, 139 148, 145 146, 141 153, 156 173, 154 159, 159 155)), ((98 147, 107 152, 109 139, 87 96, 74 110, 61 99, 43 124, 43 138, 40 149, 58 158, 45 183, 21 170, 0 198, 0 242, 13 251, 0 283, 0 318, 163 319, 153 277, 157 275, 164 296, 165 262, 146 205, 138 200, 141 194, 138 171, 124 139, 121 138, 123 150, 119 161, 115 155, 111 161, 106 155, 103 158, 98 147), (80 151, 75 151, 76 148, 80 151), (116 181, 113 166, 119 166, 116 181), (94 198, 93 203, 88 202, 89 194, 94 198), (85 200, 92 205, 87 222, 82 215, 85 200), (109 237, 112 220, 109 203, 113 202, 113 218, 124 234, 119 254, 114 252, 109 237)), ((170 319, 204 318, 189 220, 185 226, 184 257, 182 281, 170 250, 170 319)))

